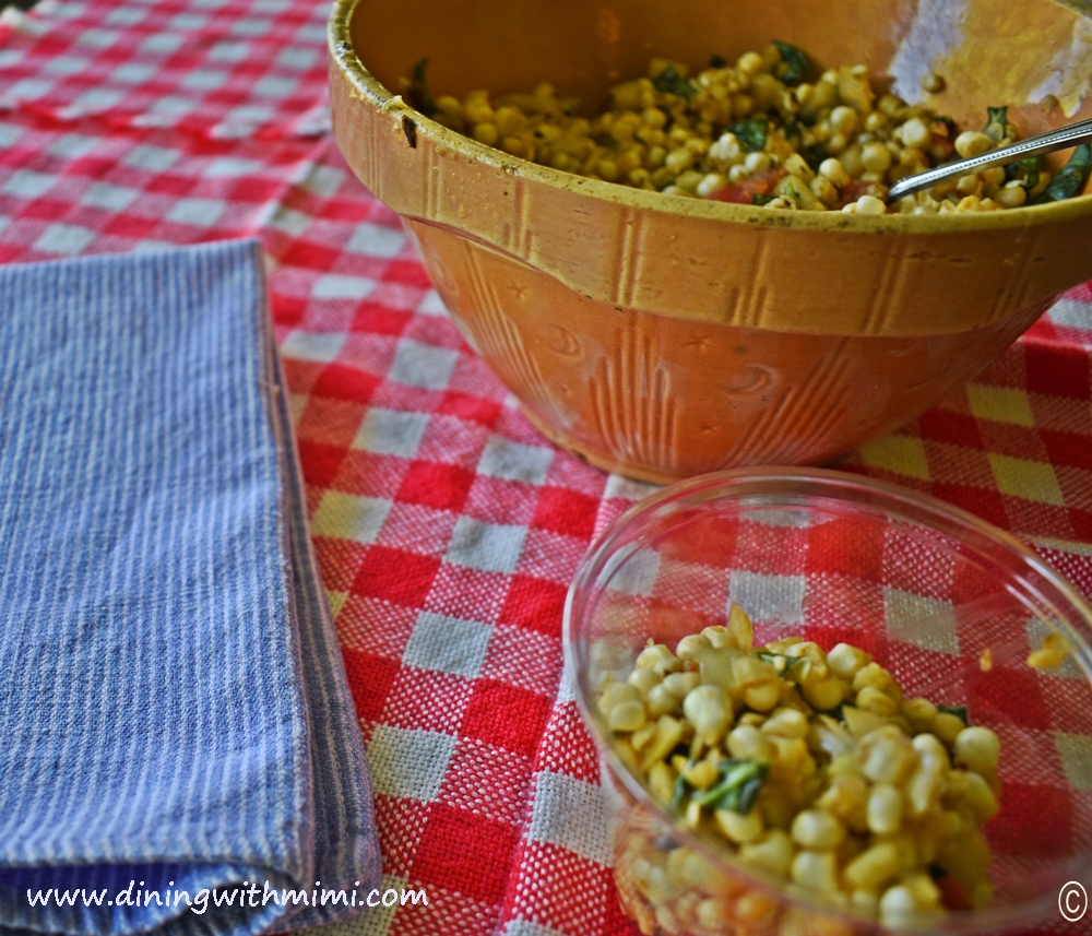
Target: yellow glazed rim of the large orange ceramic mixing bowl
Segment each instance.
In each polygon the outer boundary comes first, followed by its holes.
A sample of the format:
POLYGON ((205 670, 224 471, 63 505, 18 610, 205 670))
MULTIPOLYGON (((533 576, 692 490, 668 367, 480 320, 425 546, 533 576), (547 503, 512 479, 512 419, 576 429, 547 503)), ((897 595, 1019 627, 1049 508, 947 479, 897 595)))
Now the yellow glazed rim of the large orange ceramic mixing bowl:
MULTIPOLYGON (((392 119, 411 119, 416 125, 415 133, 431 140, 437 146, 454 150, 476 163, 553 189, 681 217, 699 217, 795 230, 874 235, 956 234, 1012 227, 1035 227, 1092 214, 1092 191, 1052 204, 1006 209, 1004 211, 960 212, 942 216, 906 214, 867 216, 845 214, 840 211, 770 211, 753 205, 731 204, 709 199, 665 196, 663 192, 633 189, 615 182, 584 178, 550 166, 541 166, 501 150, 486 146, 471 137, 465 137, 436 122, 406 104, 402 95, 385 87, 368 71, 353 47, 351 24, 360 2, 363 0, 334 0, 327 27, 331 67, 337 68, 360 99, 370 103, 377 110, 390 115, 392 119)), ((1092 19, 1092 13, 1089 11, 1077 9, 1077 12, 1092 19)))

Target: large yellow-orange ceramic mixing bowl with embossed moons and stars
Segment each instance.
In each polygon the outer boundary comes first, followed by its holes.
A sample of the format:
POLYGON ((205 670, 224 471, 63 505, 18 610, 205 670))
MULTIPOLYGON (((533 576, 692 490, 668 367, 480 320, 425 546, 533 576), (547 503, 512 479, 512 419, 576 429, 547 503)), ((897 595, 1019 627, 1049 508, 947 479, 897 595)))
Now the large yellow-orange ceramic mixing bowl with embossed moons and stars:
MULTIPOLYGON (((924 412, 1092 277, 1092 196, 1008 212, 863 217, 662 196, 537 166, 412 109, 549 80, 591 109, 668 56, 770 38, 860 62, 977 128, 1092 117, 1092 8, 1053 0, 336 0, 334 134, 404 221, 470 344, 548 438, 653 482, 820 464, 924 412), (921 88, 936 71, 947 86, 921 88)), ((1064 158, 1065 154, 1058 156, 1064 158)))

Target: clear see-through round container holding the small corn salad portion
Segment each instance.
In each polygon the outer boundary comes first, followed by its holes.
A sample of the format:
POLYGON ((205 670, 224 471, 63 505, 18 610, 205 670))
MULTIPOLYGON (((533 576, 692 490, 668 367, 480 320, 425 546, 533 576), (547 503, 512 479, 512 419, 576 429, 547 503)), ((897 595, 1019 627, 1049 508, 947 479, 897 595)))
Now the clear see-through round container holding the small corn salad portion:
POLYGON ((965 706, 999 736, 1000 810, 985 827, 994 898, 931 932, 1061 922, 1063 886, 1092 884, 1092 607, 1029 549, 953 507, 839 472, 765 469, 641 501, 603 532, 569 589, 566 661, 601 750, 619 894, 643 933, 879 928, 687 831, 613 749, 593 704, 603 679, 625 678, 650 637, 674 649, 724 623, 732 601, 751 616, 756 643, 856 644, 907 696, 965 706), (1030 668, 1051 631, 1072 656, 1030 668))

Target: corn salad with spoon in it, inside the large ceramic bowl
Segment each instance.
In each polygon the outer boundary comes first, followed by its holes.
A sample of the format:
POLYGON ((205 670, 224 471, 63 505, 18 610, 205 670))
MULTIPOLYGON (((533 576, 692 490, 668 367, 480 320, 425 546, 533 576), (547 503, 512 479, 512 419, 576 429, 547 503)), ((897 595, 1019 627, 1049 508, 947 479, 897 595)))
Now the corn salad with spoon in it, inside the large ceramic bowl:
MULTIPOLYGON (((484 90, 434 99, 426 64, 402 79, 402 93, 440 123, 523 159, 687 198, 858 214, 998 211, 1079 194, 1092 168, 1084 145, 1053 179, 1035 157, 889 206, 887 189, 899 179, 1017 141, 1007 108, 989 108, 983 129, 960 132, 925 107, 878 95, 864 66, 807 81, 806 57, 787 43, 735 64, 713 56, 692 79, 686 64, 653 59, 645 78, 613 87, 607 109, 591 119, 547 83, 497 99, 484 90)), ((926 84, 941 90, 943 80, 926 84)))

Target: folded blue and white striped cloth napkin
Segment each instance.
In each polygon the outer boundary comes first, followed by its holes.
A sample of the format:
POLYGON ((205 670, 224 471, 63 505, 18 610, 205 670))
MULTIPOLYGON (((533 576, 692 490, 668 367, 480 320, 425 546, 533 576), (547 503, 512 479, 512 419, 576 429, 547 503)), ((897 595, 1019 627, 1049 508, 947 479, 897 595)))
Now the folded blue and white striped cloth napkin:
POLYGON ((278 932, 379 877, 260 246, 0 268, 0 932, 278 932))

